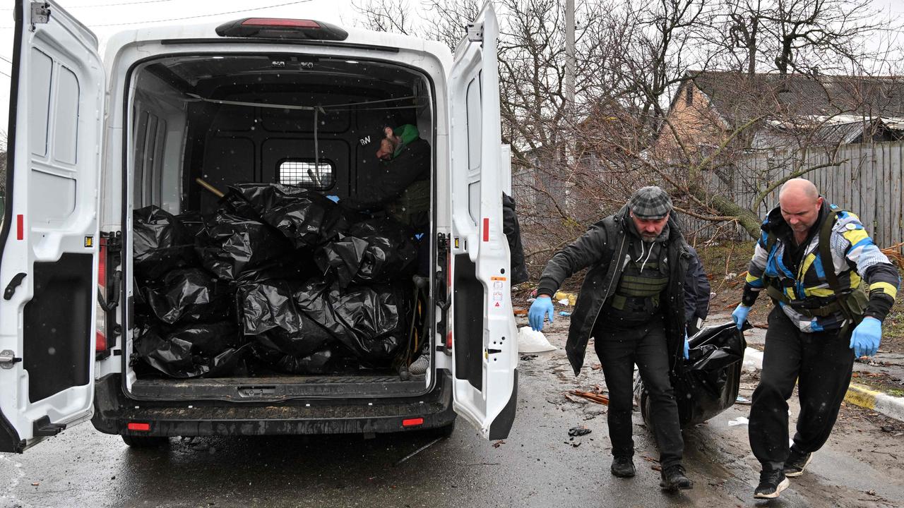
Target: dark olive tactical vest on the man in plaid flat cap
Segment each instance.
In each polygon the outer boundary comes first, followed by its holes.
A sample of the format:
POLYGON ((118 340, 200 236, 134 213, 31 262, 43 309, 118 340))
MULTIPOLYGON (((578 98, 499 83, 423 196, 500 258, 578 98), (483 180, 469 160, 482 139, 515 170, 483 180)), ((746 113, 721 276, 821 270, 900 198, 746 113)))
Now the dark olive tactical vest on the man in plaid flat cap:
POLYGON ((618 286, 606 300, 603 315, 627 323, 642 323, 659 314, 659 297, 669 283, 669 268, 659 247, 657 259, 627 262, 618 286), (642 269, 643 268, 643 269, 642 269))

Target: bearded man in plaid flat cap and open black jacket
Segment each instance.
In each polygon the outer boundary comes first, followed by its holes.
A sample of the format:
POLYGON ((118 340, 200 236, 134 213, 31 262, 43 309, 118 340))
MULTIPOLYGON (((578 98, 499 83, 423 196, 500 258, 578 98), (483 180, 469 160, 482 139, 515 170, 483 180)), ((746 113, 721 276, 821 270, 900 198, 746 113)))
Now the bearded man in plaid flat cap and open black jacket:
POLYGON ((612 475, 635 475, 631 437, 634 365, 651 405, 665 491, 690 489, 681 464, 683 439, 671 375, 683 368, 684 278, 691 261, 687 243, 671 218, 672 199, 656 186, 643 187, 617 213, 590 226, 561 249, 543 270, 528 319, 541 330, 551 295, 575 272, 590 268, 571 315, 568 353, 578 375, 589 338, 603 366, 609 390, 607 413, 612 441, 612 475))

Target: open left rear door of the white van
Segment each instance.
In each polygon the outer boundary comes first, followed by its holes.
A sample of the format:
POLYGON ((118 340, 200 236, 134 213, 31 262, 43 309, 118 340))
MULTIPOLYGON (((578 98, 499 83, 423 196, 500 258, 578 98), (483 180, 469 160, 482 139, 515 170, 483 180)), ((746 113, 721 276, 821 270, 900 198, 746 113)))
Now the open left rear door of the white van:
POLYGON ((0 451, 88 419, 94 395, 104 71, 53 2, 15 3, 0 230, 0 451))

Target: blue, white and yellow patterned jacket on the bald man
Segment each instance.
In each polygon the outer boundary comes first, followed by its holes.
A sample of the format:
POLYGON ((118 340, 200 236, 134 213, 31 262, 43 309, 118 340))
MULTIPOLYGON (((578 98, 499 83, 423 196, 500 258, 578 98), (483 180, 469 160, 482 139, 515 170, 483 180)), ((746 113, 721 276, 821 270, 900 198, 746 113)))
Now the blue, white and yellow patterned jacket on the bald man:
POLYGON ((774 294, 776 290, 781 292, 783 298, 777 299, 778 305, 802 331, 840 329, 845 320, 841 310, 818 312, 819 308, 838 307, 832 306, 835 293, 825 278, 826 267, 818 248, 818 231, 824 221, 835 221, 830 237, 833 258, 831 268, 837 274, 839 287, 846 291, 866 284, 864 289, 869 300, 863 315, 883 320, 898 294, 898 270, 873 243, 856 215, 837 211, 838 207, 835 205, 823 205, 819 220, 814 225, 816 234, 806 246, 797 267, 794 266, 788 248, 794 241, 791 228, 778 207, 769 212, 766 221, 763 221, 762 234, 754 249, 753 259, 750 259, 742 303, 746 306, 753 305, 759 292, 770 285, 774 294), (770 233, 774 238, 771 248, 770 233))

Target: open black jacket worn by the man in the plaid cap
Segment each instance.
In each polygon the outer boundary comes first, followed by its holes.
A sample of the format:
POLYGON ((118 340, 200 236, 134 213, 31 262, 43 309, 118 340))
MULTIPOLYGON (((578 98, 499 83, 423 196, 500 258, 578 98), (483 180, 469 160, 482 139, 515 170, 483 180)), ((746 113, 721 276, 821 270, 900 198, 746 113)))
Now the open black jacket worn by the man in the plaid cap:
MULTIPOLYGON (((577 376, 584 364, 584 353, 593 325, 597 321, 599 310, 607 297, 615 290, 621 278, 622 262, 612 263, 613 259, 625 259, 628 246, 627 235, 630 219, 627 206, 622 207, 614 215, 590 226, 578 240, 561 249, 550 259, 540 277, 537 293, 554 295, 562 281, 583 268, 590 268, 584 283, 580 287, 578 301, 571 314, 568 342, 565 353, 571 362, 571 368, 577 376)), ((684 347, 684 277, 690 264, 691 253, 684 241, 678 223, 674 217, 669 219, 669 237, 667 259, 669 259, 669 285, 666 298, 662 300, 665 315, 665 336, 670 355, 669 364, 673 372, 682 368, 684 347), (677 262, 673 262, 677 260, 677 262)))

